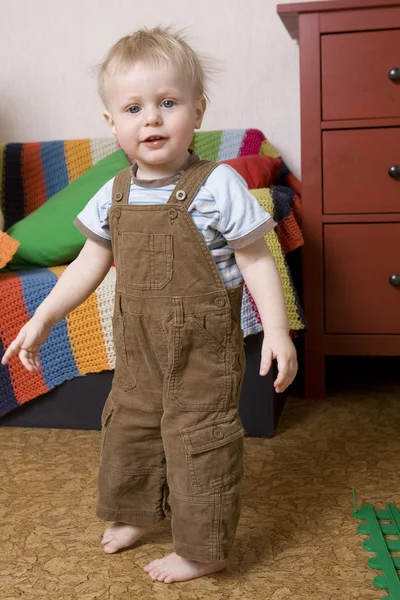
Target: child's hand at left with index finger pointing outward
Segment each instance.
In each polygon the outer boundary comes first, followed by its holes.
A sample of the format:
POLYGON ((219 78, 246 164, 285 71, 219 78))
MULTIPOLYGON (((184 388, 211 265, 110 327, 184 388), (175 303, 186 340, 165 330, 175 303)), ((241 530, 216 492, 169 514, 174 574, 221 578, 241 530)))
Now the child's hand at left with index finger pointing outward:
POLYGON ((18 352, 20 361, 28 371, 31 373, 39 371, 39 348, 47 340, 51 327, 50 323, 42 321, 38 317, 32 317, 8 346, 1 359, 1 364, 6 365, 10 358, 18 352))

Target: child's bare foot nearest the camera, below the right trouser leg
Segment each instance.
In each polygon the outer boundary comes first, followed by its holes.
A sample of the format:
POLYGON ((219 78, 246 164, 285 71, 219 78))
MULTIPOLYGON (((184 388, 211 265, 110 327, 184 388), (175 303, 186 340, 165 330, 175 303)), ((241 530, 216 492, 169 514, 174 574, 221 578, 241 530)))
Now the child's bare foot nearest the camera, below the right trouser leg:
POLYGON ((217 560, 213 563, 199 563, 194 560, 187 560, 175 552, 164 556, 144 567, 146 573, 150 575, 153 581, 164 581, 173 583, 174 581, 189 581, 210 573, 222 571, 227 566, 227 560, 217 560))

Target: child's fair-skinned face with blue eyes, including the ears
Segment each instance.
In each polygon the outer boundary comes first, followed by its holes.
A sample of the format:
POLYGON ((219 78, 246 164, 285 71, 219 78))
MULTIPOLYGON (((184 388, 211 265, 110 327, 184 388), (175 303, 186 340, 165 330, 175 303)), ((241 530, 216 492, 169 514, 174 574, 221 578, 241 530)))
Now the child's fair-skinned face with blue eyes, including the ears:
POLYGON ((135 64, 107 82, 105 117, 121 148, 151 177, 170 174, 187 157, 206 102, 173 66, 135 64))

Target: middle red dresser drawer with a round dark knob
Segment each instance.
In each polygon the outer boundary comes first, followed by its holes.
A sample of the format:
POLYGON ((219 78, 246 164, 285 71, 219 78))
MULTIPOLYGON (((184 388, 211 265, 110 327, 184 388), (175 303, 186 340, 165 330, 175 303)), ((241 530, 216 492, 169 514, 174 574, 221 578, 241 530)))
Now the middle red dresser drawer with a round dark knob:
POLYGON ((325 214, 400 213, 400 127, 324 131, 322 163, 325 214))

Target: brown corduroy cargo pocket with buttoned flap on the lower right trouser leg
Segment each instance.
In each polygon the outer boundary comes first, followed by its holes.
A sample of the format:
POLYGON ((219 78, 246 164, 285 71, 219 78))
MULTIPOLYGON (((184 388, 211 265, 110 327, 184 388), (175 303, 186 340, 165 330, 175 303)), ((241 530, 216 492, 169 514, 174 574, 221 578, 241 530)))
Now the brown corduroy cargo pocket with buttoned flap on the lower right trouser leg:
POLYGON ((181 431, 195 493, 241 480, 244 434, 236 414, 181 431))

